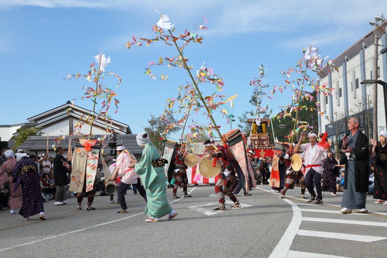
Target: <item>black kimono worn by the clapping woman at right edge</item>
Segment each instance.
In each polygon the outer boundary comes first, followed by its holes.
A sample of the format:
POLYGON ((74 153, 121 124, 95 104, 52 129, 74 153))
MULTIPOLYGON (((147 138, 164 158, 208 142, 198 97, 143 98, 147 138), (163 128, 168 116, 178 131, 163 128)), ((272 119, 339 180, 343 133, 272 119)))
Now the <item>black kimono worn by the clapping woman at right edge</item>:
POLYGON ((382 147, 380 141, 375 148, 375 181, 373 198, 387 201, 387 144, 382 147))

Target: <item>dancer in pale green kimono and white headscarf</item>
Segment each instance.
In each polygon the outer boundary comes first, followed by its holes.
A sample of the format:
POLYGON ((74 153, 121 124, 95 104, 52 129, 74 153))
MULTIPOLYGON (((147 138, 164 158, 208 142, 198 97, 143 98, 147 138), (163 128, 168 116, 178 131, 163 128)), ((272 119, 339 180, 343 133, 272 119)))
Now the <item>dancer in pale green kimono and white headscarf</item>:
POLYGON ((140 175, 142 184, 146 190, 147 206, 144 214, 148 215, 145 222, 158 222, 159 218, 168 214, 167 220, 171 220, 178 214, 169 205, 166 198, 165 172, 163 158, 153 146, 146 132, 137 134, 137 144, 144 148, 140 162, 130 163, 129 168, 134 168, 140 175))

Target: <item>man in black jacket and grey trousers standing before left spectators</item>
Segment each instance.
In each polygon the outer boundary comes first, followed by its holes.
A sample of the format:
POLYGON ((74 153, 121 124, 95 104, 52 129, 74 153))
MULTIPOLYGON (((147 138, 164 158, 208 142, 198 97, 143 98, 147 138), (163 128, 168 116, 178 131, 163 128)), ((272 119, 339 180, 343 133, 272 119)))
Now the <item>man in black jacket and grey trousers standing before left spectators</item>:
POLYGON ((54 205, 63 205, 67 203, 67 184, 68 184, 68 175, 67 160, 63 157, 63 148, 57 148, 57 155, 54 157, 54 179, 55 185, 57 186, 57 192, 55 193, 55 203, 54 205))

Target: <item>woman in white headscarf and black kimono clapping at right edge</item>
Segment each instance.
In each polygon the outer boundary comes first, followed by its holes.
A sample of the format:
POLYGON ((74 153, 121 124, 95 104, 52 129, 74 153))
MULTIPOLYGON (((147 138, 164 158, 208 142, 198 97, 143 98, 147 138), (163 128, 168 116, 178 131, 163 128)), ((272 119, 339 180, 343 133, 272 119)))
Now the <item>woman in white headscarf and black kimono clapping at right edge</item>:
POLYGON ((379 141, 371 139, 371 143, 372 157, 375 158, 373 198, 377 199, 375 203, 387 205, 387 132, 381 131, 379 141))

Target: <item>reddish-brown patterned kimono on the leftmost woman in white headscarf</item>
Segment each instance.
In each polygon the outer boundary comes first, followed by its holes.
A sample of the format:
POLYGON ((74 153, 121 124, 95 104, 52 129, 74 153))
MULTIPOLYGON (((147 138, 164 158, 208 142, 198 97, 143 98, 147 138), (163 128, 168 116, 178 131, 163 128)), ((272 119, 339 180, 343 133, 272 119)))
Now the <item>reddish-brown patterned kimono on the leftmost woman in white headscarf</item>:
POLYGON ((0 169, 0 185, 9 183, 10 199, 8 205, 11 210, 21 208, 22 206, 22 189, 19 186, 14 190, 15 184, 12 182, 12 170, 14 169, 16 162, 16 158, 8 158, 0 169))

